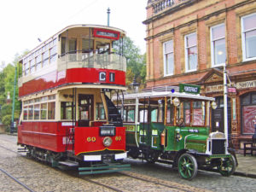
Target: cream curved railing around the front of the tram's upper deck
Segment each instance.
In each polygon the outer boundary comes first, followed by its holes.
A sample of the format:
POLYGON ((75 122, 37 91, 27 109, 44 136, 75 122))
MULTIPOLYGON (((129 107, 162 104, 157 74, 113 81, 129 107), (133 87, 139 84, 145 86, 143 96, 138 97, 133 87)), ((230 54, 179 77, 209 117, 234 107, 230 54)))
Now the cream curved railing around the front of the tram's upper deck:
POLYGON ((114 53, 97 54, 92 51, 84 53, 79 50, 61 55, 58 59, 58 71, 81 67, 126 71, 126 59, 125 56, 114 53))

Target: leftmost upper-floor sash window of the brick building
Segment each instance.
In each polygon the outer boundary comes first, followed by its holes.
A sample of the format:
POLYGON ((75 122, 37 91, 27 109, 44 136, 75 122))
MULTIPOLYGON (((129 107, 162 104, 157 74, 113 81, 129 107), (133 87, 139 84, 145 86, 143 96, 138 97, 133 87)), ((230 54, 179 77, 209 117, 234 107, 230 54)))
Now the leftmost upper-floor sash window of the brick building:
POLYGON ((164 43, 164 70, 165 76, 174 72, 173 40, 164 43))

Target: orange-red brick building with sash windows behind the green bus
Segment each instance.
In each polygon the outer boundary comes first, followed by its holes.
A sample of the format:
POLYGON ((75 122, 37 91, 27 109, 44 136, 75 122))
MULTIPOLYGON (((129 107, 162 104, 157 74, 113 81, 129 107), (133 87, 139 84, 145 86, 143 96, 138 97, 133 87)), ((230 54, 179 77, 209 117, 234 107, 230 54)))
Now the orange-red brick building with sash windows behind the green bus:
POLYGON ((147 87, 200 84, 216 98, 212 131, 224 131, 223 68, 230 86, 229 135, 236 148, 254 133, 256 1, 148 0, 147 87))

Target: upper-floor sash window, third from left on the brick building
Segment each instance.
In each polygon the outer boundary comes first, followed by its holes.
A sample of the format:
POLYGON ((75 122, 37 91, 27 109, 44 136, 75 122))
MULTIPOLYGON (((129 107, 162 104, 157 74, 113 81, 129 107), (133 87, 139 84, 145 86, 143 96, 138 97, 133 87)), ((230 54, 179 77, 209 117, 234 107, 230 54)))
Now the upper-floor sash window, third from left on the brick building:
POLYGON ((226 61, 225 26, 211 27, 212 67, 223 66, 226 61))

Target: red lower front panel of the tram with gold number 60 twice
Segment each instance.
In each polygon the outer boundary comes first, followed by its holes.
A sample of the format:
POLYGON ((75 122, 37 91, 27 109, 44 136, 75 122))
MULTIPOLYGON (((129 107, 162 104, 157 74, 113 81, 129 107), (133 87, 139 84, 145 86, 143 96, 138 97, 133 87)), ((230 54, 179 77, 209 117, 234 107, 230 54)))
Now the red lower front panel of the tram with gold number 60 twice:
MULTIPOLYGON (((106 149, 103 139, 100 137, 99 127, 76 127, 75 128, 75 154, 97 152, 106 149), (94 138, 93 138, 94 137, 94 138)), ((125 127, 116 127, 116 135, 111 137, 113 143, 109 150, 125 151, 125 127)))

